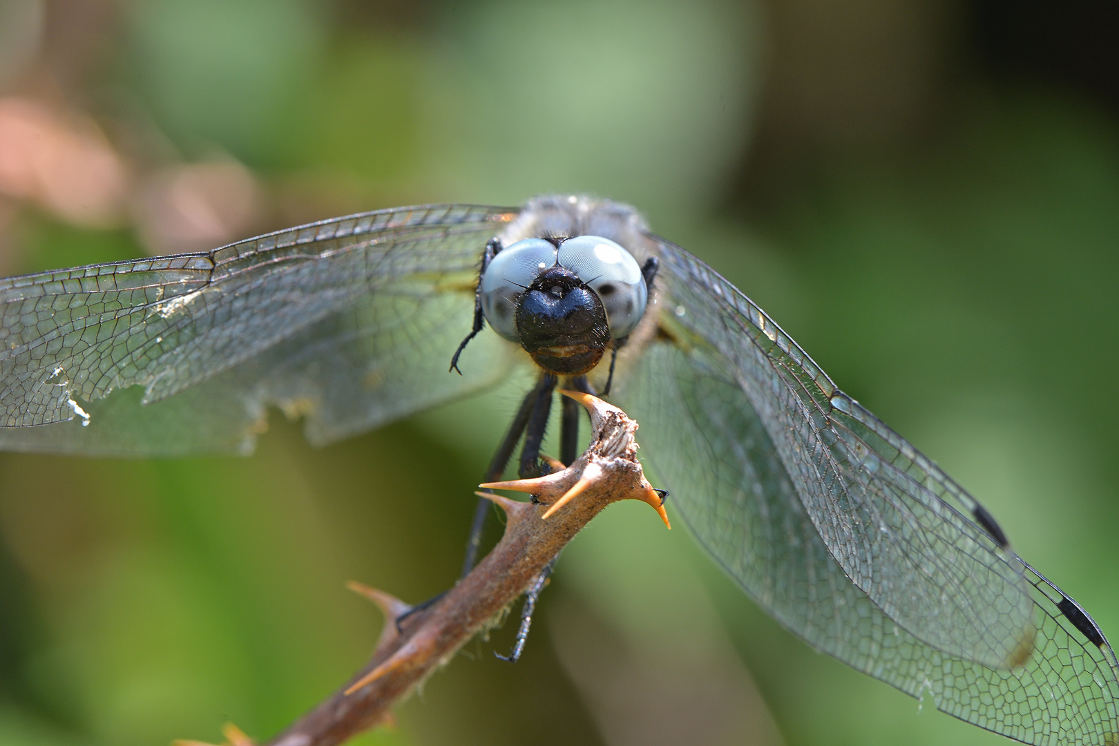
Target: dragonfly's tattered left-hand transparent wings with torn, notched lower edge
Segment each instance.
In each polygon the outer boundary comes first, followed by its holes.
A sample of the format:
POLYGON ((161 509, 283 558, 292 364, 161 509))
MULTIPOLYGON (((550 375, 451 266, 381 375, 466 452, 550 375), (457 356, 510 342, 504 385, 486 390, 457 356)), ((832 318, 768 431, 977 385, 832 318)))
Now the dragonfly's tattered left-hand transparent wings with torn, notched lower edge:
POLYGON ((0 447, 245 451, 274 404, 328 442, 500 378, 469 331, 508 208, 379 210, 159 257, 0 281, 0 447), (140 405, 143 406, 140 406, 140 405))

